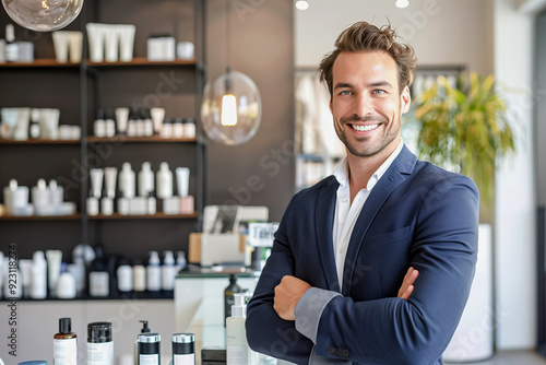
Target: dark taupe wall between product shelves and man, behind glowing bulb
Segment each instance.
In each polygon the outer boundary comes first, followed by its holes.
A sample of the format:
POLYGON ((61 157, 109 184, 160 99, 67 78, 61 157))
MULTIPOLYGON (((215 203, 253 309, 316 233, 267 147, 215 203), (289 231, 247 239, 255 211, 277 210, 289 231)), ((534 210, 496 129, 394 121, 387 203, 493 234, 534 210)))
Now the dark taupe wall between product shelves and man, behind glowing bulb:
POLYGON ((209 203, 266 205, 278 221, 294 193, 294 1, 207 1, 206 75, 225 71, 229 40, 233 70, 249 75, 262 99, 262 121, 247 143, 209 143, 209 203))

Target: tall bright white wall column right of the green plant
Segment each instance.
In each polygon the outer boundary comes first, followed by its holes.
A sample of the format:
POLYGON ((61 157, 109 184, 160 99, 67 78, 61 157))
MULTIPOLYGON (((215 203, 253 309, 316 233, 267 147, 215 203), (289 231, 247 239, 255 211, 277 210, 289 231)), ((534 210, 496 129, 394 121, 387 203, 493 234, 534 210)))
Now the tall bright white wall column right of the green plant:
POLYGON ((497 345, 532 348, 536 332, 535 174, 533 162, 534 15, 495 1, 495 75, 518 128, 517 155, 497 173, 497 345), (508 90, 507 90, 508 89, 508 90))

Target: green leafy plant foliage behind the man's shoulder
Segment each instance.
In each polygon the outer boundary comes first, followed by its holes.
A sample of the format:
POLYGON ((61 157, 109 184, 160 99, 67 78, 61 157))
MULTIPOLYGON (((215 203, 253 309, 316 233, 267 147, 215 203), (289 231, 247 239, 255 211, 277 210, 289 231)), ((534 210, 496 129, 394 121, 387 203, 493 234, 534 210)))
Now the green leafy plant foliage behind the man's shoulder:
POLYGON ((419 157, 471 177, 483 202, 490 203, 497 162, 514 151, 507 105, 495 91, 495 78, 472 72, 450 85, 440 76, 417 96, 415 118, 420 125, 419 157))

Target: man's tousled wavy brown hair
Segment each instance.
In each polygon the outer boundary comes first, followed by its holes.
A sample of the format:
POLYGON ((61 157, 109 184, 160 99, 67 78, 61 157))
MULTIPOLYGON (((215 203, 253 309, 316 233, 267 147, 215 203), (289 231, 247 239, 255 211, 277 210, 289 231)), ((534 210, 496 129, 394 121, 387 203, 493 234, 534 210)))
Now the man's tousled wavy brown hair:
POLYGON ((396 33, 390 25, 378 28, 367 22, 357 22, 343 31, 335 40, 335 49, 324 56, 319 64, 320 80, 325 81, 332 96, 333 66, 341 52, 357 52, 366 50, 383 50, 391 55, 396 62, 399 71, 400 93, 405 86, 413 82, 413 69, 417 64, 417 58, 412 46, 403 45, 394 40, 396 33))

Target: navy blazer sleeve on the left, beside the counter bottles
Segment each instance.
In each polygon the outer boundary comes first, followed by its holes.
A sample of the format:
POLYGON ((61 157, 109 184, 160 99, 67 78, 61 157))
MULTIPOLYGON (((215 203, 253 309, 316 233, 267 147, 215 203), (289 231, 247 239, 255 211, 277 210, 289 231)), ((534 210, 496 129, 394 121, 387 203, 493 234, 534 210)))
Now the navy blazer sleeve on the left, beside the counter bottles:
POLYGON ((296 330, 294 321, 282 319, 273 309, 275 286, 284 275, 295 275, 295 260, 286 232, 295 199, 288 204, 275 233, 268 263, 248 304, 246 328, 247 341, 252 350, 295 364, 308 364, 313 343, 296 330))

